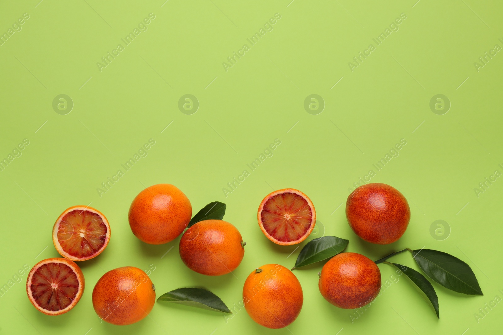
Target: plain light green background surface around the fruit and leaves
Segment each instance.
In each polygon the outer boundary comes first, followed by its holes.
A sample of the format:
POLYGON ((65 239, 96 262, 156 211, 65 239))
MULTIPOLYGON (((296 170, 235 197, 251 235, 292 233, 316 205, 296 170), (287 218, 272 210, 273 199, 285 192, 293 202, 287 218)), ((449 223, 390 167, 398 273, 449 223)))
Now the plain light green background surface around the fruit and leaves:
MULTIPOLYGON (((102 255, 79 263, 86 290, 64 315, 47 316, 33 308, 26 297, 26 273, 21 282, 11 282, 0 297, 0 333, 501 331, 501 303, 478 322, 474 316, 495 295, 503 298, 498 292, 503 290, 498 261, 503 181, 496 178, 478 197, 474 191, 495 170, 503 172, 498 166, 503 165, 503 55, 496 53, 478 72, 474 66, 495 44, 503 47, 498 40, 503 39, 500 2, 38 1, 0 4, 0 33, 8 32, 23 13, 30 16, 0 46, 0 158, 7 158, 23 139, 30 141, 21 157, 0 171, 0 284, 8 284, 25 264, 31 268, 59 256, 51 230, 71 205, 91 204, 105 213, 112 237, 102 255), (149 13, 155 19, 148 30, 100 72, 96 63, 149 13), (246 39, 275 13, 281 19, 274 29, 251 46, 246 39), (372 39, 401 13, 406 20, 399 30, 377 46, 372 39), (226 72, 222 62, 243 44, 250 50, 226 72), (369 44, 376 50, 352 72, 348 62, 369 44), (59 94, 73 100, 71 113, 53 110, 59 94), (184 94, 198 98, 197 113, 185 115, 178 109, 184 94), (309 94, 324 99, 321 114, 304 110, 309 94), (451 101, 445 115, 430 110, 436 94, 451 101), (148 155, 100 196, 101 183, 149 139, 155 145, 148 155), (246 164, 275 139, 281 145, 274 155, 224 196, 222 188, 248 170, 246 164), (373 164, 400 139, 407 144, 376 172, 373 164), (395 186, 409 200, 408 230, 392 245, 363 242, 346 221, 348 188, 370 169, 376 172, 372 182, 395 186), (194 213, 213 200, 227 204, 225 219, 246 242, 244 259, 233 274, 192 272, 180 260, 179 238, 150 246, 133 236, 129 205, 140 190, 156 183, 179 187, 194 213), (318 229, 312 237, 349 239, 347 251, 373 260, 405 247, 450 253, 472 267, 485 295, 466 297, 434 284, 440 301, 437 320, 401 277, 352 323, 351 310, 334 307, 319 294, 319 263, 294 271, 304 306, 288 329, 254 323, 233 305, 242 299, 245 278, 263 264, 290 268, 300 251, 272 244, 257 225, 260 201, 285 187, 298 188, 313 201, 318 229), (438 219, 451 229, 442 241, 430 235, 438 219), (156 303, 149 317, 136 324, 119 329, 100 323, 91 301, 93 287, 104 272, 127 265, 155 268, 150 278, 157 296, 202 285, 234 308, 234 316, 226 320, 209 311, 156 303)), ((409 254, 393 260, 417 269, 409 254)), ((379 267, 383 282, 394 273, 386 264, 379 267)))

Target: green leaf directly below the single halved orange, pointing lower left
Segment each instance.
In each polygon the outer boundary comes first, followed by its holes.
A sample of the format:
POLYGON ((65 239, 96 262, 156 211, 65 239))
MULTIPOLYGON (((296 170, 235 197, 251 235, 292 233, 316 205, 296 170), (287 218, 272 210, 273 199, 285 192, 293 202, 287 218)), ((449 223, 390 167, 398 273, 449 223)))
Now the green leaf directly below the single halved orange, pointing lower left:
POLYGON ((337 255, 346 248, 348 243, 348 240, 335 236, 323 236, 309 241, 300 251, 292 270, 337 255))

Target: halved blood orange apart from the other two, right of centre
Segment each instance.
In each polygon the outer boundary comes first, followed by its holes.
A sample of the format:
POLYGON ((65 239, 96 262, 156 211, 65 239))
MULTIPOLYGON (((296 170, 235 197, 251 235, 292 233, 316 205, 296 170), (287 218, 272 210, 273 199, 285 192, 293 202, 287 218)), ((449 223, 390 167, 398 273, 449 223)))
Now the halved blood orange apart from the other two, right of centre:
POLYGON ((289 246, 301 243, 311 234, 316 224, 316 211, 307 195, 294 188, 285 188, 262 200, 257 218, 269 240, 289 246))

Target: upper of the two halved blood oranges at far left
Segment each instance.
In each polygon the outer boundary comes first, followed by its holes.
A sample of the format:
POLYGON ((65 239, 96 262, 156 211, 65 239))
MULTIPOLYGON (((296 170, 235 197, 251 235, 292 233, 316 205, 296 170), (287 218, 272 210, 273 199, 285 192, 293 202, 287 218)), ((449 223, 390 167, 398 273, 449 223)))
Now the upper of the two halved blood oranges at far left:
POLYGON ((72 206, 59 215, 52 229, 58 253, 72 261, 86 261, 102 253, 110 241, 110 225, 99 210, 72 206))

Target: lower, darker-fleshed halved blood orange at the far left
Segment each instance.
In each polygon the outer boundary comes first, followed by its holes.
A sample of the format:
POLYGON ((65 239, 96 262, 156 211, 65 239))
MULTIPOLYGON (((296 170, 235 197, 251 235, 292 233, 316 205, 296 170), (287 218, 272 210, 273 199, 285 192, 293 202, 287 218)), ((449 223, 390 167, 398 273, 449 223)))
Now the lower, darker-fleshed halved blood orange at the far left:
POLYGON ((39 311, 59 315, 77 304, 85 286, 84 275, 74 262, 66 258, 48 258, 31 269, 26 293, 39 311))

